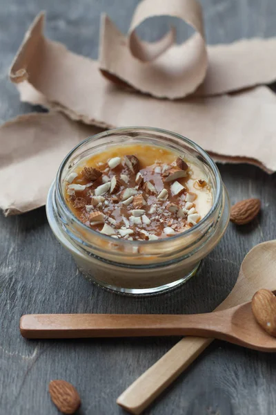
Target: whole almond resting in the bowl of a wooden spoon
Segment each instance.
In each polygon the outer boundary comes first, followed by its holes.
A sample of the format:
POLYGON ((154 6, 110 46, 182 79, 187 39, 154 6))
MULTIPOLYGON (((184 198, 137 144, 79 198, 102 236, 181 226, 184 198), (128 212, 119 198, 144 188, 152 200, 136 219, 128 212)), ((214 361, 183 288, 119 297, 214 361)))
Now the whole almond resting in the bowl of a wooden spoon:
POLYGON ((252 311, 260 326, 276 337, 276 297, 272 291, 262 289, 252 299, 252 311))

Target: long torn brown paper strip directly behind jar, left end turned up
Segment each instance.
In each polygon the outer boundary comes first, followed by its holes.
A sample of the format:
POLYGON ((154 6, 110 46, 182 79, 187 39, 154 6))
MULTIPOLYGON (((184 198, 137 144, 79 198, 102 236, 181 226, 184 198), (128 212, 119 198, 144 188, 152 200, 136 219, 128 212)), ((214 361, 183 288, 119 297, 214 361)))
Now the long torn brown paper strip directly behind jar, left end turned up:
POLYGON ((186 101, 128 93, 103 80, 96 62, 45 39, 42 23, 41 15, 12 67, 14 81, 26 80, 19 84, 22 100, 41 102, 74 120, 99 127, 169 129, 188 136, 221 159, 241 158, 268 172, 275 171, 276 99, 265 87, 186 101))

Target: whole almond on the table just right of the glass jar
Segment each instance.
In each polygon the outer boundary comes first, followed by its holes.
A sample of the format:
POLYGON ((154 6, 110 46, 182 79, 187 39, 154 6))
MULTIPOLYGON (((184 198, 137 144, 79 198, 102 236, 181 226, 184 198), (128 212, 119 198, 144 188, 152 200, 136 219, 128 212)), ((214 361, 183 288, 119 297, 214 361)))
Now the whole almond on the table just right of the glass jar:
POLYGON ((261 208, 259 199, 245 199, 239 201, 231 208, 230 221, 236 225, 245 225, 253 221, 261 208))

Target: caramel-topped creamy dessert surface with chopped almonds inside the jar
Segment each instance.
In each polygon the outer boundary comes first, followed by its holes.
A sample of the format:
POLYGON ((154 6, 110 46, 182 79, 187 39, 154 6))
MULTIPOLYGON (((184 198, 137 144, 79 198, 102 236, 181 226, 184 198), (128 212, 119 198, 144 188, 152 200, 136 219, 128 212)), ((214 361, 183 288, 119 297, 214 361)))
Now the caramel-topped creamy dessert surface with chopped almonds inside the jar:
POLYGON ((198 162, 142 144, 82 160, 65 186, 66 201, 81 222, 128 241, 185 232, 208 213, 212 193, 198 162))

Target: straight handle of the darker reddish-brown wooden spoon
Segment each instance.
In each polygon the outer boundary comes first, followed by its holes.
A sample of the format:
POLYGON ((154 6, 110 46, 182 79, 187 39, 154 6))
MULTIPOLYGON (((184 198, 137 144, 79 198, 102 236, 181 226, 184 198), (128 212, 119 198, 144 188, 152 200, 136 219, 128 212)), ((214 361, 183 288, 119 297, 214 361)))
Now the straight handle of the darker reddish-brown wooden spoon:
POLYGON ((155 335, 208 337, 215 321, 207 315, 37 314, 23 315, 20 331, 25 338, 95 338, 155 335), (207 320, 207 322, 206 322, 207 320))

